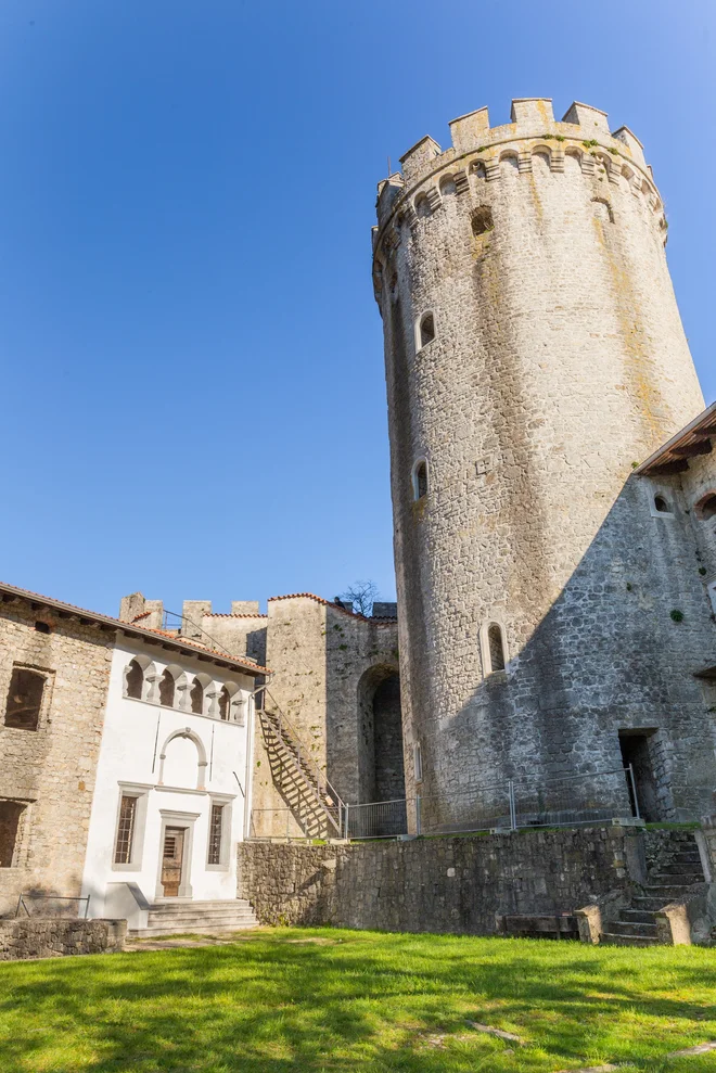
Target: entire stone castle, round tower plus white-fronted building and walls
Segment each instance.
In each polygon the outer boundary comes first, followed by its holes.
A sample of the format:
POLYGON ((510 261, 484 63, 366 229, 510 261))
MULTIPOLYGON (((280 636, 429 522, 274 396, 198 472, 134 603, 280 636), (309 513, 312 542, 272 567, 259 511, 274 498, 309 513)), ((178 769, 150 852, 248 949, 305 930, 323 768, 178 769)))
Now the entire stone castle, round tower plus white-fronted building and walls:
POLYGON ((242 840, 709 810, 716 405, 651 168, 583 104, 450 129, 373 231, 397 606, 2 586, 2 911, 89 895, 141 931, 230 902, 242 840))

